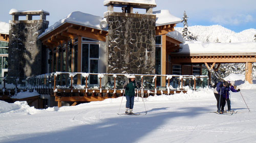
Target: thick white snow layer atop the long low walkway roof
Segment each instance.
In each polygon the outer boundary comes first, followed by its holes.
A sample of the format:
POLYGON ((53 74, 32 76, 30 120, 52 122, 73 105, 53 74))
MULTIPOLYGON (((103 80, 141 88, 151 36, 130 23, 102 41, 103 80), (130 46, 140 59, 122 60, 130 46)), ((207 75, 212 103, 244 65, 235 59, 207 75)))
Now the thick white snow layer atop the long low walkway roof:
POLYGON ((256 42, 208 43, 203 41, 186 41, 180 45, 179 53, 251 53, 256 52, 256 42))

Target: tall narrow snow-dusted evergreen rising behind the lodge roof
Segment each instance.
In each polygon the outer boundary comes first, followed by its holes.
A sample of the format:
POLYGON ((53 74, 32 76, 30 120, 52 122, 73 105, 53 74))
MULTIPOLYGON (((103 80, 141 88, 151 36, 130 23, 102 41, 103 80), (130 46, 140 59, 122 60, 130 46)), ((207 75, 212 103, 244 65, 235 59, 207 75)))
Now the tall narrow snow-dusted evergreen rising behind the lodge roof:
POLYGON ((186 41, 192 41, 196 40, 197 41, 197 36, 194 36, 191 32, 188 31, 188 24, 187 24, 187 14, 186 11, 184 11, 184 17, 181 22, 183 22, 183 30, 182 30, 182 36, 186 41))

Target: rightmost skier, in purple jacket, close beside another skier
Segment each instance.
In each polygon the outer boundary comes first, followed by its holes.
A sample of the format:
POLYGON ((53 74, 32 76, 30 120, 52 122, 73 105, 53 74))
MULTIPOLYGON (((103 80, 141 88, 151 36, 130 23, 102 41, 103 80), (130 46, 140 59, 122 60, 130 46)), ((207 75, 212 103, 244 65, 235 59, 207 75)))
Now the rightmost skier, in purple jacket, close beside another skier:
POLYGON ((240 92, 240 89, 236 90, 234 89, 234 81, 230 81, 230 83, 227 82, 227 85, 226 87, 228 87, 228 89, 225 88, 225 93, 222 94, 222 106, 221 106, 221 110, 224 111, 224 106, 226 104, 225 101, 227 101, 227 109, 228 111, 231 111, 231 105, 230 105, 230 99, 229 99, 229 90, 231 90, 231 92, 240 92))

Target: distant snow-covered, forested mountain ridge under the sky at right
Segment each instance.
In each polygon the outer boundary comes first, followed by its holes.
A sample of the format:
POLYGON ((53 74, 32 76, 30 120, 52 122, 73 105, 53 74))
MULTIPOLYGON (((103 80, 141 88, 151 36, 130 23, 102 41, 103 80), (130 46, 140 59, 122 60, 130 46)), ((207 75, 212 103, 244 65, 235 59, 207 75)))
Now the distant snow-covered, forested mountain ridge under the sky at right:
MULTIPOLYGON (((183 27, 175 27, 175 30, 182 34, 183 27)), ((207 41, 208 39, 208 42, 219 41, 221 43, 255 42, 254 35, 256 34, 256 30, 253 28, 236 33, 221 25, 188 26, 188 31, 197 36, 198 41, 207 41)))

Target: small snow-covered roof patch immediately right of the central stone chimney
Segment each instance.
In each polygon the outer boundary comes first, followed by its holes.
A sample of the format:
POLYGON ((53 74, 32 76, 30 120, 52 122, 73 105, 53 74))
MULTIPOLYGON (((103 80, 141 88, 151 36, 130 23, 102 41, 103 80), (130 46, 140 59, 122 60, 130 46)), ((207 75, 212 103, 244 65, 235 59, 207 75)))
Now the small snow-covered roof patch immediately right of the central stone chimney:
POLYGON ((157 16, 156 26, 181 22, 181 19, 179 17, 173 16, 172 14, 170 14, 169 10, 154 11, 153 14, 156 14, 157 16))

